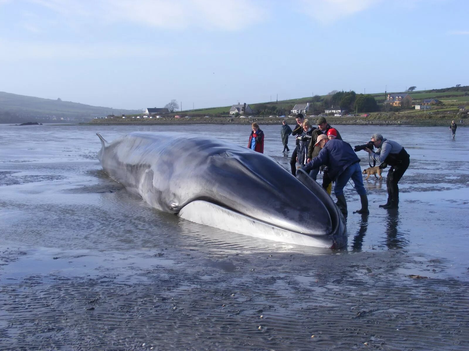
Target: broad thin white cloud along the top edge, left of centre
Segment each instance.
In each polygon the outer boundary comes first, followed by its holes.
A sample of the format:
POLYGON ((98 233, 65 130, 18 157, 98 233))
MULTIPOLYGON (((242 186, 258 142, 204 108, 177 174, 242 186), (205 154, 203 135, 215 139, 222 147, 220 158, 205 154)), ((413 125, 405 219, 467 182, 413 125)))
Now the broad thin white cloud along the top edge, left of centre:
MULTIPOLYGON (((1 1, 1 0, 0 0, 1 1)), ((236 30, 265 18, 255 0, 30 0, 70 21, 133 23, 162 29, 236 30), (233 21, 236 25, 233 25, 233 21), (241 26, 240 26, 241 25, 241 26)))

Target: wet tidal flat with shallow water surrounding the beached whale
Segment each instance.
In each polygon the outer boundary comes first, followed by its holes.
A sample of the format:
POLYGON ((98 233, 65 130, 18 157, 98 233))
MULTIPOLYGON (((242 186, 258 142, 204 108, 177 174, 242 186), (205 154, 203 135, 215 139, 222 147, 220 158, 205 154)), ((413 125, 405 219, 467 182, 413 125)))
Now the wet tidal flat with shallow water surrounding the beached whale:
MULTIPOLYGON (((265 154, 289 168, 280 125, 261 129, 265 154)), ((160 212, 97 160, 96 132, 113 140, 176 131, 247 145, 249 126, 0 125, 0 348, 464 350, 468 129, 455 139, 440 127, 339 130, 352 145, 381 132, 411 163, 398 212, 378 208, 386 170, 382 181, 364 181, 368 218, 352 214, 360 205, 348 184, 348 247, 333 252, 160 212)))

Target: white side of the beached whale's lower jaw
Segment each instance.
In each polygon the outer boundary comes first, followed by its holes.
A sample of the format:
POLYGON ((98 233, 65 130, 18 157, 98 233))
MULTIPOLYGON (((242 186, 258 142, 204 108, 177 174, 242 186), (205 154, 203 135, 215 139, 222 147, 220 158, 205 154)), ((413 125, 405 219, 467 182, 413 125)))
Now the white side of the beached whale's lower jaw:
POLYGON ((287 244, 329 249, 342 246, 342 238, 335 235, 314 235, 290 231, 202 200, 185 205, 179 212, 179 217, 228 232, 287 244))

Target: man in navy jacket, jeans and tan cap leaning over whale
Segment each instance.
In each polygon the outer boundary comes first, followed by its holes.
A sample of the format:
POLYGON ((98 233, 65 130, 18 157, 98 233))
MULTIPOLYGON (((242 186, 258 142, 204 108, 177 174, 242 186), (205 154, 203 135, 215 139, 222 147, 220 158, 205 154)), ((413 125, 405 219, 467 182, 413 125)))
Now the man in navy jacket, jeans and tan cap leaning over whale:
POLYGON ((360 159, 345 141, 339 139, 328 139, 327 135, 321 134, 316 140, 316 145, 321 148, 318 156, 308 162, 303 170, 309 171, 322 165, 329 167, 329 177, 335 181, 334 194, 337 197, 337 206, 344 216, 347 216, 347 201, 344 196, 344 187, 352 178, 355 183, 355 190, 360 195, 362 208, 356 213, 368 214, 368 197, 363 186, 362 170, 360 169, 360 159))

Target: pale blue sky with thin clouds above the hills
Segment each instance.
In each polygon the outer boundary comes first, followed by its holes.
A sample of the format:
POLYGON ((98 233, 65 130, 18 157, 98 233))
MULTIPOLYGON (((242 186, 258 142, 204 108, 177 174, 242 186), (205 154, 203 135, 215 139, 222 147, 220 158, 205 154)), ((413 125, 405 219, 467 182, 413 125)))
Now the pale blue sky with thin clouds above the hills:
POLYGON ((0 91, 120 109, 469 85, 467 0, 0 0, 0 91))

